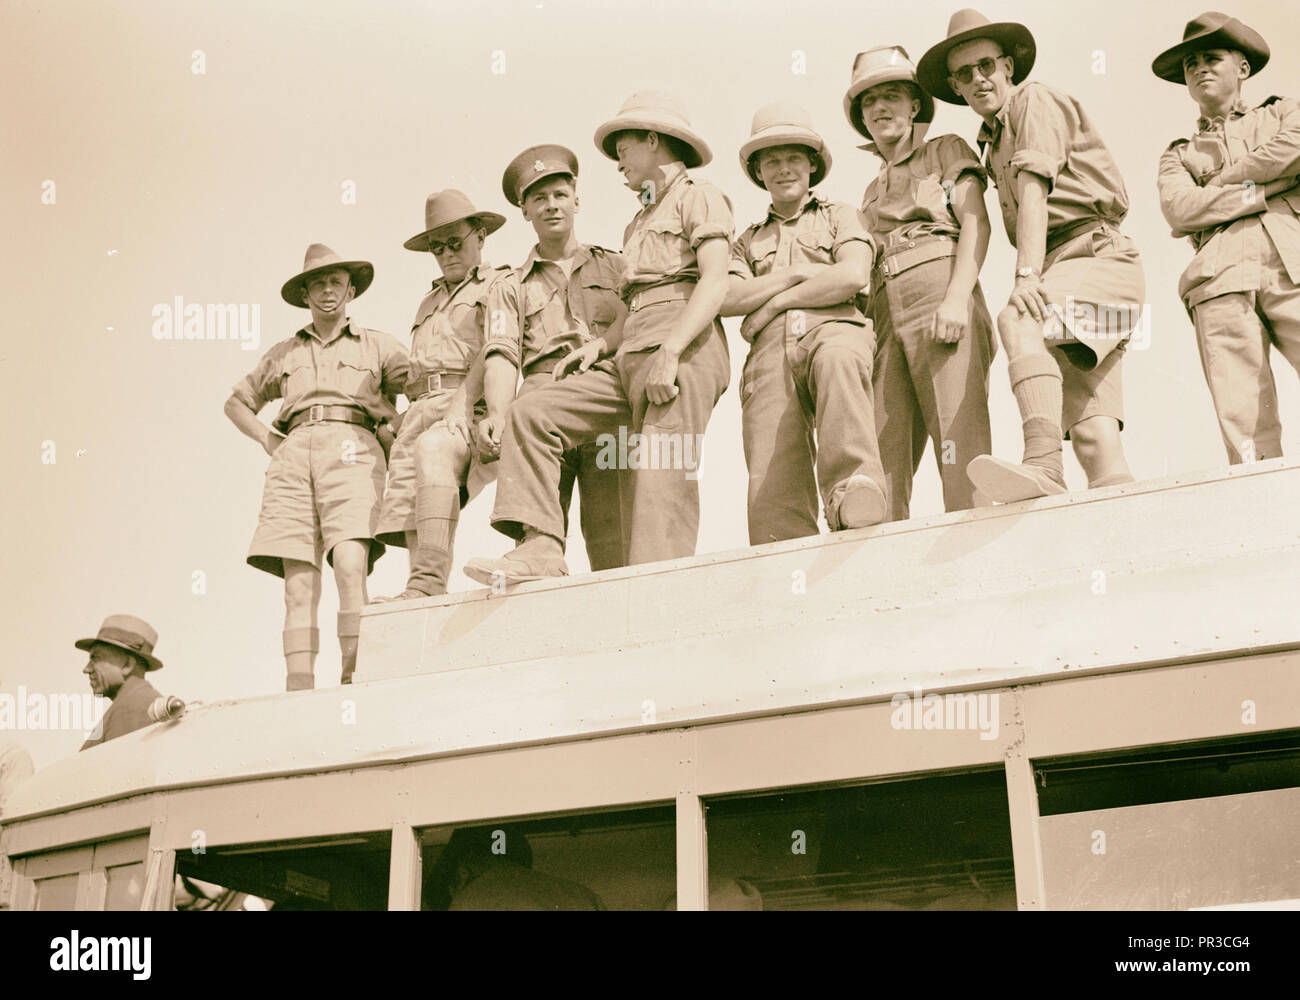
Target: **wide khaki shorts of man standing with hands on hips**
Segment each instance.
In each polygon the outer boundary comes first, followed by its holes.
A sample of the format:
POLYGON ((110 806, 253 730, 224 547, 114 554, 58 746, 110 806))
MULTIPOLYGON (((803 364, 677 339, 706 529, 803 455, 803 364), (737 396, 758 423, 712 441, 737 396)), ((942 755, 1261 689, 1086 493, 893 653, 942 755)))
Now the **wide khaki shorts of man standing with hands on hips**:
POLYGON ((285 575, 285 559, 321 568, 334 564, 334 546, 348 538, 370 542, 367 571, 384 554, 376 541, 384 495, 384 449, 355 424, 303 424, 270 456, 261 490, 257 531, 248 564, 285 575))

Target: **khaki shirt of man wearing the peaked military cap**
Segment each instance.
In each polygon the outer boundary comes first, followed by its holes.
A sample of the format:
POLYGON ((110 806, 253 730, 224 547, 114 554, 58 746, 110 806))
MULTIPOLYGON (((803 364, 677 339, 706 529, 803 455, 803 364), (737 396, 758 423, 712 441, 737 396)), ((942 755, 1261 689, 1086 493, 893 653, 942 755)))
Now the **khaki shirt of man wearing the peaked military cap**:
POLYGON ((621 282, 623 256, 611 250, 580 244, 566 277, 533 247, 524 265, 488 293, 486 352, 525 372, 538 362, 563 359, 614 322, 621 282))

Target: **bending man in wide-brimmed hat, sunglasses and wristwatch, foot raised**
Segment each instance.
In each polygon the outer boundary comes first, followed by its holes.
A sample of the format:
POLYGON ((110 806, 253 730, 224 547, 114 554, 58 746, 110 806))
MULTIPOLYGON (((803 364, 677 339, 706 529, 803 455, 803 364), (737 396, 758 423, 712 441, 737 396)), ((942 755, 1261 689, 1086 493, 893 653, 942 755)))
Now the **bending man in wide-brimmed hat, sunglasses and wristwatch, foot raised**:
POLYGON ((1004 503, 1066 492, 1062 432, 1089 488, 1132 481, 1119 437, 1121 363, 1145 312, 1141 259, 1119 231, 1123 178, 1076 100, 1024 82, 1035 51, 1023 25, 967 9, 916 65, 926 92, 983 118, 979 142, 1017 248, 997 328, 1024 459, 980 455, 967 466, 976 489, 1004 503))

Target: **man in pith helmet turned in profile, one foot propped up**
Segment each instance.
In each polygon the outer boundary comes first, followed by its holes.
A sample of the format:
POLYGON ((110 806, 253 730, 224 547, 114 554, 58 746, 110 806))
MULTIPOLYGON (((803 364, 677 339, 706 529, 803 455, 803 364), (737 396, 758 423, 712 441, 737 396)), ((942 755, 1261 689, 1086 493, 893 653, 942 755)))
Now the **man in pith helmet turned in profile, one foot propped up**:
POLYGON ((481 583, 567 572, 564 516, 552 484, 564 454, 592 441, 606 454, 620 453, 608 462, 632 472, 628 564, 696 551, 701 442, 731 375, 718 319, 727 295, 731 203, 688 176, 712 153, 671 95, 632 95, 597 129, 595 144, 618 161, 642 205, 623 234, 620 295, 628 316, 621 338, 612 334, 612 371, 589 368, 569 376, 575 382, 563 399, 537 390, 510 408, 493 527, 521 541, 504 559, 465 564, 481 583))

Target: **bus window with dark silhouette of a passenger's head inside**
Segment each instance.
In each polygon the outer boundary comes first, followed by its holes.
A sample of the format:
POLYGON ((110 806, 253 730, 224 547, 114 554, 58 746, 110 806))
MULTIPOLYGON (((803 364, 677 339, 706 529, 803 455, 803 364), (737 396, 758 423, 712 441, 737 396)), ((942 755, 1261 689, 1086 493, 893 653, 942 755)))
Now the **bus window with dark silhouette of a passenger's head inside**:
POLYGON ((676 884, 672 806, 436 827, 422 909, 658 910, 676 884))

